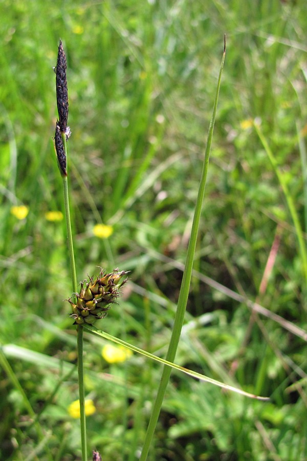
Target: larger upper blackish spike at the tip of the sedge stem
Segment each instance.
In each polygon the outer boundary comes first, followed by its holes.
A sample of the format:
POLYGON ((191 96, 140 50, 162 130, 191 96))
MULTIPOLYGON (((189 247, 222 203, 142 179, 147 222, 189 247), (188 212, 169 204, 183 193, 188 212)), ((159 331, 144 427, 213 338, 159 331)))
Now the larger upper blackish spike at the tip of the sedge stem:
POLYGON ((68 121, 68 89, 66 77, 67 62, 60 40, 58 47, 58 56, 55 68, 56 74, 56 102, 59 114, 59 127, 62 133, 66 134, 68 121))

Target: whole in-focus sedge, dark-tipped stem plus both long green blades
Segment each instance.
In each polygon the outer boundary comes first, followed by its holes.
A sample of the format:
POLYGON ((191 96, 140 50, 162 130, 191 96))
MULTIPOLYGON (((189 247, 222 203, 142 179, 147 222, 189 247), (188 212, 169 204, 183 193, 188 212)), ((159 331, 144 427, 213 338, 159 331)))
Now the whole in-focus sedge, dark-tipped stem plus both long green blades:
MULTIPOLYGON (((155 427, 158 421, 160 414, 161 406, 164 399, 164 393, 169 381, 171 368, 180 370, 194 378, 197 378, 201 381, 214 384, 216 386, 222 387, 227 390, 237 392, 239 394, 253 397, 258 400, 267 400, 267 397, 260 397, 254 394, 245 392, 242 389, 234 388, 225 383, 213 380, 208 376, 188 370, 179 365, 173 363, 173 360, 176 356, 176 351, 180 339, 181 329, 183 326, 184 315, 186 310, 186 304, 188 299, 189 287, 191 282, 193 259, 195 254, 196 240, 198 237, 199 224, 201 218, 202 204, 205 193, 205 185, 207 179, 208 165, 209 165, 209 155, 212 143, 213 128, 216 116, 218 94, 220 91, 222 71, 224 67, 224 60, 226 54, 226 36, 224 38, 224 52, 221 61, 220 73, 218 75, 216 94, 214 99, 213 113, 209 125, 208 139, 205 150, 204 162, 203 162, 203 171, 199 186, 198 198, 196 200, 193 223, 191 228, 190 241, 187 250, 186 264, 183 275, 183 280, 181 284, 179 300, 176 310, 176 315, 174 318, 174 326, 172 329, 172 335, 168 347, 168 351, 165 359, 161 359, 156 355, 150 354, 149 352, 142 350, 136 346, 126 343, 119 338, 115 338, 110 334, 103 332, 97 329, 94 326, 94 323, 105 317, 107 311, 113 303, 116 302, 120 296, 119 289, 127 281, 126 275, 128 272, 126 270, 114 269, 111 273, 107 273, 104 269, 100 270, 100 274, 96 279, 90 277, 89 280, 83 280, 80 283, 80 290, 77 291, 77 277, 76 277, 76 266, 75 266, 75 257, 74 257, 74 247, 73 247, 73 236, 72 236, 72 226, 71 226, 71 217, 70 217, 70 207, 69 207, 69 188, 68 188, 68 165, 67 165, 67 141, 71 135, 70 128, 67 125, 68 122, 68 88, 67 88, 67 61, 65 53, 63 50, 62 43, 60 41, 58 47, 58 58, 57 66, 55 68, 56 73, 56 95, 57 95, 57 108, 59 119, 56 121, 55 128, 55 151, 57 157, 57 163, 59 171, 63 180, 63 196, 64 196, 64 206, 65 206, 65 219, 67 223, 67 234, 68 234, 68 244, 69 244, 69 254, 71 262, 71 276, 72 276, 72 286, 73 286, 73 295, 68 299, 71 308, 71 318, 74 320, 74 325, 77 328, 77 357, 78 357, 78 384, 79 384, 79 404, 80 404, 80 427, 81 427, 81 452, 82 452, 82 461, 87 460, 87 444, 86 444, 86 420, 85 420, 85 398, 84 398, 84 372, 83 372, 83 331, 84 328, 95 334, 98 337, 102 337, 109 341, 113 341, 119 345, 129 348, 139 354, 145 355, 148 359, 155 360, 164 365, 160 385, 158 388, 157 396, 155 403, 153 404, 152 413, 147 428, 146 436, 144 439, 143 450, 141 453, 141 460, 145 460, 148 455, 150 444, 152 441, 153 434, 155 432, 155 427)), ((93 452, 93 459, 99 459, 100 454, 98 452, 93 452)))

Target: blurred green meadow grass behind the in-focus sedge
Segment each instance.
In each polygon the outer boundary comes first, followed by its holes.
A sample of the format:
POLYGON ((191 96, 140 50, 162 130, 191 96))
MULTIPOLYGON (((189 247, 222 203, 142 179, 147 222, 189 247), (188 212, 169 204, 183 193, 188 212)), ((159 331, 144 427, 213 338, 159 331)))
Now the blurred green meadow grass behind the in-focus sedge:
MULTIPOLYGON (((98 274, 96 266, 130 270, 119 306, 98 326, 164 357, 224 33, 196 272, 176 362, 271 401, 172 372, 150 459, 307 458, 307 333, 283 324, 306 329, 304 250, 253 127, 256 120, 274 154, 305 244, 304 10, 302 0, 2 0, 0 338, 46 437, 2 361, 1 459, 80 459, 78 420, 68 410, 78 389, 75 329, 62 301, 72 292, 65 224, 47 214, 63 212, 52 141, 59 38, 68 59, 77 277, 98 274), (27 216, 18 219, 14 206, 26 206, 27 216), (97 224, 113 234, 95 236, 97 224), (281 320, 258 317, 204 276, 281 320)), ((108 363, 105 344, 86 337, 86 394, 96 408, 89 447, 104 461, 137 459, 161 366, 135 356, 108 363)))

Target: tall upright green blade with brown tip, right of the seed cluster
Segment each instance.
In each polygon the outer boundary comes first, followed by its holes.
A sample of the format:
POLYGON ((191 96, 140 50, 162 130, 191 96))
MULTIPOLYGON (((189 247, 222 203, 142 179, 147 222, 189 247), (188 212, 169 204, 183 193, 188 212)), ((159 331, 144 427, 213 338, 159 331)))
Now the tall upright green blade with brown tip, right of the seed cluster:
MULTIPOLYGON (((178 299, 176 315, 174 318, 174 325, 172 329, 171 339, 170 339, 168 351, 166 354, 166 360, 169 362, 173 362, 175 355, 176 355, 176 351, 177 351, 177 347, 178 347, 178 343, 180 339, 180 334, 181 334, 181 329, 182 329, 182 325, 184 321, 187 300, 188 300, 193 260, 194 260, 195 248, 196 248, 196 241, 197 241, 197 236, 198 236, 198 231, 199 231, 202 204, 203 204, 204 194, 205 194, 209 157, 210 157, 211 143, 212 143, 212 137, 213 137, 213 129, 214 129, 215 116, 216 116, 218 94, 220 92, 222 71, 223 71, 224 61, 225 61, 225 54, 226 54, 226 36, 224 38, 224 52, 223 52, 223 57, 222 57, 222 62, 221 62, 221 67, 220 67, 220 74, 218 75, 212 118, 211 118, 210 125, 209 125, 208 140, 207 140, 205 158, 204 158, 204 163, 203 163, 203 171, 202 171, 202 177, 201 177, 201 182, 200 182, 200 187, 199 187, 199 192, 198 192, 198 198, 196 200, 196 205, 195 205, 191 236, 190 236, 188 250, 187 250, 186 264, 185 264, 185 269, 183 273, 183 279, 182 279, 182 284, 180 288, 180 294, 179 294, 179 299, 178 299)), ((164 394, 165 394, 166 387, 169 381, 170 372, 171 372, 170 367, 164 365, 156 400, 155 400, 155 403, 153 404, 152 413, 150 416, 147 432, 145 435, 145 440, 144 440, 142 453, 140 456, 140 461, 145 461, 147 458, 149 447, 150 447, 152 437, 153 437, 153 433, 155 432, 155 428, 158 422, 158 417, 161 411, 164 394)))

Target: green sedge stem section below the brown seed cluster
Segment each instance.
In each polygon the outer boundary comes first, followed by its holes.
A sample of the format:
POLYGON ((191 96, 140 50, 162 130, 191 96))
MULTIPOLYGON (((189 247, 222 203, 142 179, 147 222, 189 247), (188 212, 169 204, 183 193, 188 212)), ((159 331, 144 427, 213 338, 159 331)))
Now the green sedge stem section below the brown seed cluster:
POLYGON ((87 461, 86 448, 86 421, 85 421, 85 400, 84 400, 84 379, 83 379, 83 326, 77 326, 77 348, 78 348, 78 379, 79 379, 79 402, 80 402, 80 425, 81 425, 81 450, 82 461, 87 461))

